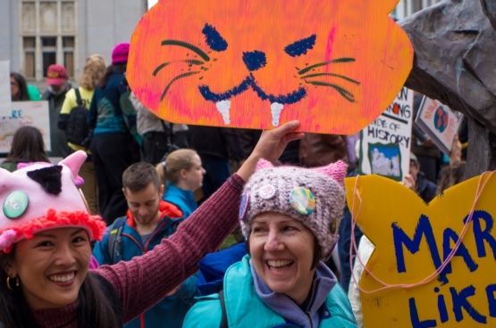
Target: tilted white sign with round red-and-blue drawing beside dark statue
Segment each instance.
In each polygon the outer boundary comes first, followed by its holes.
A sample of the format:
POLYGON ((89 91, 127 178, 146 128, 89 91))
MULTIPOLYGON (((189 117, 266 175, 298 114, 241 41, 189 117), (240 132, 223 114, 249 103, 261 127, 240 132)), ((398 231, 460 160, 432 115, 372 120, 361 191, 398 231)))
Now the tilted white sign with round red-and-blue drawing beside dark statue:
POLYGON ((441 102, 424 96, 415 122, 433 139, 441 152, 450 156, 451 144, 462 119, 463 114, 459 111, 452 111, 441 102))

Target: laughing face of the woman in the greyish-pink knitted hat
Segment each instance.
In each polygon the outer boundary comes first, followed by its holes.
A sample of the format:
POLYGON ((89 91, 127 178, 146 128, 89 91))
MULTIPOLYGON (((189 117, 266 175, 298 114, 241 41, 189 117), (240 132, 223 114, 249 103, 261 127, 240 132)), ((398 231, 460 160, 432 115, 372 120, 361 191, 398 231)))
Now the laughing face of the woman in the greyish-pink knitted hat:
POLYGON ((271 290, 303 303, 315 273, 314 234, 298 220, 273 212, 254 217, 251 229, 249 250, 257 275, 271 290))

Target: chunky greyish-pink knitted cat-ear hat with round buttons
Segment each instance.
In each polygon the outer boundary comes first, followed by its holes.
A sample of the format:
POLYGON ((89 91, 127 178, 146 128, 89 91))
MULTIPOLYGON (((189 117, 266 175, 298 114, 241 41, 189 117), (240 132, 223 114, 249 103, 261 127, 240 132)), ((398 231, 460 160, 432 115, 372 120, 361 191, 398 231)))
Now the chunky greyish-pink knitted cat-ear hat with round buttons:
POLYGON ((274 168, 270 162, 260 160, 241 199, 240 220, 245 238, 251 233, 254 217, 277 212, 306 225, 322 249, 322 258, 329 258, 339 239, 346 168, 342 161, 322 168, 274 168))

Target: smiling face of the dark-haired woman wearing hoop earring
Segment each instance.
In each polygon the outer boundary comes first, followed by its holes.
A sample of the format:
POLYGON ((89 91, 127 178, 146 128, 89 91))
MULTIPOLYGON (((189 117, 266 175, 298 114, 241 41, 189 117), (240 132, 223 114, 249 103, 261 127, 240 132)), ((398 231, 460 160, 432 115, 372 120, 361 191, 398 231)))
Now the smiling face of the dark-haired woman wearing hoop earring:
POLYGON ((78 298, 90 258, 86 230, 56 228, 18 242, 5 271, 9 277, 19 278, 32 310, 65 307, 78 298))

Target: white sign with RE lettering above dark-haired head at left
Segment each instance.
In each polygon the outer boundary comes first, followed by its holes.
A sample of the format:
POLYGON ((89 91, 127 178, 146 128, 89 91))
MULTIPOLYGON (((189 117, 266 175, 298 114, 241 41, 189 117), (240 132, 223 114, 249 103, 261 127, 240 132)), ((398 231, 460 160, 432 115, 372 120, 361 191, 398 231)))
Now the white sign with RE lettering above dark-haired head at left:
POLYGON ((43 135, 45 151, 50 151, 48 102, 13 102, 11 116, 0 119, 0 152, 10 152, 13 134, 19 127, 37 127, 43 135))

